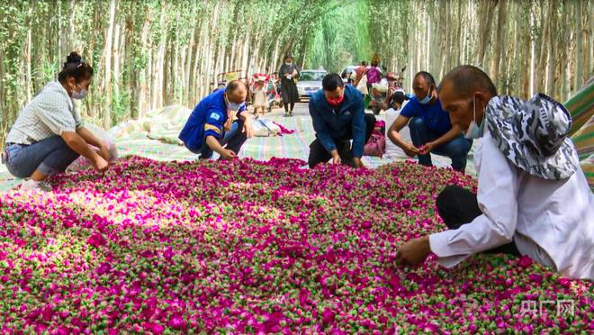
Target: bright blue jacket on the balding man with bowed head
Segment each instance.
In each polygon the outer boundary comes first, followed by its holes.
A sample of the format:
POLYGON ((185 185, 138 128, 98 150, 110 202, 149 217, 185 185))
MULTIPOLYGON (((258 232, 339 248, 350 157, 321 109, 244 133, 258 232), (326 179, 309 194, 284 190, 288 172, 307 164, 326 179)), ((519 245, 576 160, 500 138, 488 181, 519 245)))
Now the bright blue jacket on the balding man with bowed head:
MULTIPOLYGON (((207 95, 196 105, 184 129, 179 134, 187 149, 196 152, 202 148, 204 139, 207 136, 214 136, 220 139, 224 130, 223 124, 229 119, 227 104, 225 104, 226 89, 220 89, 207 95)), ((245 104, 239 108, 238 114, 245 111, 245 104)))

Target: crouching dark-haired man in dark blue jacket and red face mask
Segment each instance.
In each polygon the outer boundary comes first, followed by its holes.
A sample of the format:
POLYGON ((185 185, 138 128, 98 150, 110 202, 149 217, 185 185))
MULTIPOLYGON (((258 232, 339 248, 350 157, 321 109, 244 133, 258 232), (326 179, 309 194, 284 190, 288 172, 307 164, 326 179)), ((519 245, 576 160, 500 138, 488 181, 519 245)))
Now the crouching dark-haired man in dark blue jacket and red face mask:
POLYGON ((354 86, 331 73, 322 90, 311 96, 310 114, 316 140, 310 145, 310 168, 332 159, 333 164, 361 168, 363 147, 374 131, 375 117, 365 114, 363 96, 354 86), (353 140, 351 149, 350 140, 353 140))

